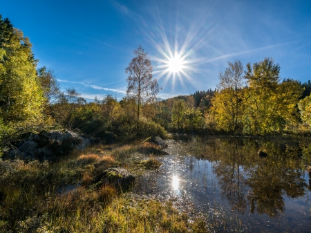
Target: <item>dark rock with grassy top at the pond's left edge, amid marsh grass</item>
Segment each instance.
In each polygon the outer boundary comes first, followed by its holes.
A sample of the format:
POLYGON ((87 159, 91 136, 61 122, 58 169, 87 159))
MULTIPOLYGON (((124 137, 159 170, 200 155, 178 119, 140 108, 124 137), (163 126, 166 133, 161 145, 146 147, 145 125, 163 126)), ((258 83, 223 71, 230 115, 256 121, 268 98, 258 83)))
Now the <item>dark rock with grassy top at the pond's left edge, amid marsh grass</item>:
POLYGON ((113 185, 122 192, 128 190, 135 183, 135 176, 122 167, 112 167, 106 169, 97 176, 91 183, 91 189, 98 189, 104 184, 113 185))

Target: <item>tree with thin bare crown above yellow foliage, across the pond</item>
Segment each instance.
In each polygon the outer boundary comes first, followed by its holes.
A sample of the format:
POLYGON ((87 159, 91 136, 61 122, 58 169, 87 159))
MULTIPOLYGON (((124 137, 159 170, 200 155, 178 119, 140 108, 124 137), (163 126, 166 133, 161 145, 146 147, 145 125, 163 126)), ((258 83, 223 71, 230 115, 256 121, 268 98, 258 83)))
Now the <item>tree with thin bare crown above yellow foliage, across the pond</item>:
POLYGON ((229 62, 225 73, 219 73, 218 91, 212 99, 211 112, 218 129, 236 132, 243 115, 243 64, 229 62))

